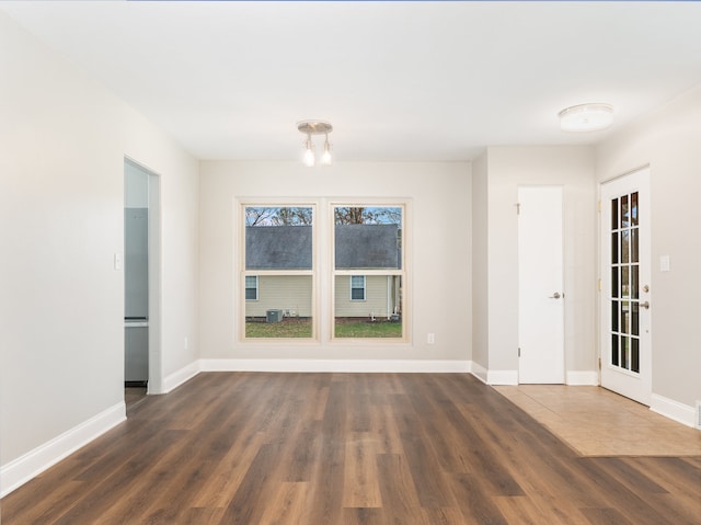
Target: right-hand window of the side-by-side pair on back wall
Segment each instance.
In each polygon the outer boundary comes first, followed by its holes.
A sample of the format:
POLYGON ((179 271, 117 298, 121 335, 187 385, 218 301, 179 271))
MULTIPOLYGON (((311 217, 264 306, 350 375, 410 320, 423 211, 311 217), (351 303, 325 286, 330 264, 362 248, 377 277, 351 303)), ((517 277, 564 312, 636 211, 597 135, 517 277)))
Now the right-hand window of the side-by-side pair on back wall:
POLYGON ((333 206, 335 339, 405 339, 404 216, 403 205, 333 206))

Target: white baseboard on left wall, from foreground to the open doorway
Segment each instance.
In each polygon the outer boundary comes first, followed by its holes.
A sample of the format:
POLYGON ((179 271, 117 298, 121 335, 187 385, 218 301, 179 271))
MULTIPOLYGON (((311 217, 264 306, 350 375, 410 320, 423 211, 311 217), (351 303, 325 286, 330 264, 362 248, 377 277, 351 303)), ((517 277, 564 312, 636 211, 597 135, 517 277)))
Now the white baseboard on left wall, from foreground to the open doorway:
POLYGON ((127 419, 126 406, 115 406, 0 467, 0 498, 18 489, 127 419))

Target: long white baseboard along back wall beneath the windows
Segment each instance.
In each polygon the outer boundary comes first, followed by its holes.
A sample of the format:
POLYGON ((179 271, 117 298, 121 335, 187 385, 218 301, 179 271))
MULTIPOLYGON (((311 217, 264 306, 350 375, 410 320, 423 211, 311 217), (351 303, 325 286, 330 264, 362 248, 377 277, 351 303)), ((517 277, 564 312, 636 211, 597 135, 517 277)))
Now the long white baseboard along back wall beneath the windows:
POLYGON ((470 361, 200 359, 202 372, 468 373, 470 361))

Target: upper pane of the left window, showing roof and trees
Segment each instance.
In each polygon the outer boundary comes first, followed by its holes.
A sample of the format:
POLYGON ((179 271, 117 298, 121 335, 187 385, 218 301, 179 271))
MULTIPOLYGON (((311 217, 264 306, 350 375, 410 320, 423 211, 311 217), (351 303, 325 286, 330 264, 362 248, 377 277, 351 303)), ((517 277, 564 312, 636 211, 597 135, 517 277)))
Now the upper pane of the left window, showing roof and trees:
POLYGON ((311 270, 311 207, 246 207, 246 270, 311 270))

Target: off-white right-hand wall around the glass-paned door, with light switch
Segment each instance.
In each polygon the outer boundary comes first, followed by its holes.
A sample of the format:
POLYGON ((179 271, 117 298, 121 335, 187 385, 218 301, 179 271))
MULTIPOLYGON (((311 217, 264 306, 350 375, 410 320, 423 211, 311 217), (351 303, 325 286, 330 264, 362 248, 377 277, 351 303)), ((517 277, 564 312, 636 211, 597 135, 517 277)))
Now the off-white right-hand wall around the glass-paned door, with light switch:
POLYGON ((596 148, 599 181, 650 164, 653 393, 687 407, 701 400, 700 147, 701 85, 596 148), (660 255, 669 272, 659 271, 660 255))

